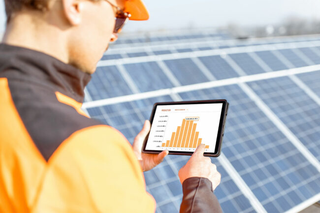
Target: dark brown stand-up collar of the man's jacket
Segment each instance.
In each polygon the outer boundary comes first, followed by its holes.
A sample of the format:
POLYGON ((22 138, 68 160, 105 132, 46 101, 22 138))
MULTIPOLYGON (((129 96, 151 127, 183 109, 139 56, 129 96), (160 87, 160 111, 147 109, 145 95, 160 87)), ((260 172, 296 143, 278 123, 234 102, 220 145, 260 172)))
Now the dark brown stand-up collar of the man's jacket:
POLYGON ((16 69, 35 81, 83 102, 91 75, 52 56, 31 49, 0 43, 0 71, 16 69))

